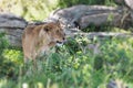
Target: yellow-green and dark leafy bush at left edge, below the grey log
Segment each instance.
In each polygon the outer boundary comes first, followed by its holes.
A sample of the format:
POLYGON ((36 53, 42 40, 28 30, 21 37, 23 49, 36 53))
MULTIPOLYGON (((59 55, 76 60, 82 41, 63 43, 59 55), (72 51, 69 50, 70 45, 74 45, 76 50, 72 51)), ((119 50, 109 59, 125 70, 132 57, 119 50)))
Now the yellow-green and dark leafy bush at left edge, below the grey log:
POLYGON ((18 74, 18 65, 22 64, 22 53, 10 50, 4 33, 0 33, 0 78, 18 74))

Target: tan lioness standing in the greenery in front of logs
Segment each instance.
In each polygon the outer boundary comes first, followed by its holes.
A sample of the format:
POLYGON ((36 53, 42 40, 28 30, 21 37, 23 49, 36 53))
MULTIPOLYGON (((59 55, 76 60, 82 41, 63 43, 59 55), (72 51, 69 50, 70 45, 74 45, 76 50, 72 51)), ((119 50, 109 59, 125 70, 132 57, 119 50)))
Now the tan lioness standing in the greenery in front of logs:
POLYGON ((28 25, 22 35, 24 62, 35 59, 40 53, 49 51, 57 44, 63 44, 65 34, 60 22, 28 25))

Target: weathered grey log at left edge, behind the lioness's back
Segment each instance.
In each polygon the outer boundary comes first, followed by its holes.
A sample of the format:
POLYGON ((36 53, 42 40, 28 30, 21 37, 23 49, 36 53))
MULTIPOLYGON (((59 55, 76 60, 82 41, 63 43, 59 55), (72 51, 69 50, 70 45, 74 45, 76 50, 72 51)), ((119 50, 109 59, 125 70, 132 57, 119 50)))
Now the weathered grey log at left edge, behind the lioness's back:
POLYGON ((0 14, 0 32, 6 33, 11 46, 21 46, 21 35, 28 22, 11 13, 0 14))

